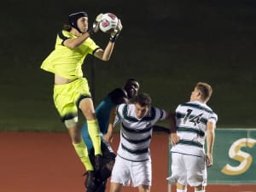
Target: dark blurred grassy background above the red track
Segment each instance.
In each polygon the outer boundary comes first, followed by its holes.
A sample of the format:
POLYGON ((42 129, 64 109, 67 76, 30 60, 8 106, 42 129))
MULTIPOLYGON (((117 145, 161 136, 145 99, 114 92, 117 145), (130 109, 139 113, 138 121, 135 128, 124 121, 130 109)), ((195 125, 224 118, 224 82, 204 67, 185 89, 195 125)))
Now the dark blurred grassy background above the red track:
MULTIPOLYGON (((90 26, 107 12, 124 26, 110 61, 84 62, 95 106, 132 77, 154 106, 174 111, 203 81, 213 88, 218 127, 256 127, 255 1, 9 0, 0 8, 0 131, 67 131, 52 100, 54 76, 40 65, 77 11, 89 14, 90 26)), ((93 37, 102 48, 108 38, 93 37)))

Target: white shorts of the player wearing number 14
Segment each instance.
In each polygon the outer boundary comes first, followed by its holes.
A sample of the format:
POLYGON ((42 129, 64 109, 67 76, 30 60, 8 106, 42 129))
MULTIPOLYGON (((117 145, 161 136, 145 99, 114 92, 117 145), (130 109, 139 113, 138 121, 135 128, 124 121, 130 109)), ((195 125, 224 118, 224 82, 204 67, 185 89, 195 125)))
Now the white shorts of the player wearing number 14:
POLYGON ((192 187, 207 185, 207 165, 205 157, 172 153, 171 183, 189 184, 192 187))

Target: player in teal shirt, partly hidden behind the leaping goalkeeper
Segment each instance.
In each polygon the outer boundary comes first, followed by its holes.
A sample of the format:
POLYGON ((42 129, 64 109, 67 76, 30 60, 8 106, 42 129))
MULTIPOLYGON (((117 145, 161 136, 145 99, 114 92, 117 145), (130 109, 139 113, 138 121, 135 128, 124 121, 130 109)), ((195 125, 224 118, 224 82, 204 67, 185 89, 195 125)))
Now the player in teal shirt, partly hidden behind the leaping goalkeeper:
MULTIPOLYGON (((112 108, 123 102, 129 102, 134 96, 137 96, 139 84, 136 79, 128 79, 122 88, 112 90, 102 102, 96 107, 96 117, 99 121, 100 130, 104 136, 108 131, 109 114, 112 108)), ((90 139, 87 128, 87 123, 84 123, 82 128, 82 137, 90 154, 90 160, 94 159, 94 148, 90 139)), ((97 172, 87 172, 87 177, 94 177, 93 184, 87 187, 87 192, 104 192, 108 177, 111 175, 115 154, 109 143, 104 143, 102 140, 102 165, 97 172), (93 175, 92 175, 93 174, 93 175)))

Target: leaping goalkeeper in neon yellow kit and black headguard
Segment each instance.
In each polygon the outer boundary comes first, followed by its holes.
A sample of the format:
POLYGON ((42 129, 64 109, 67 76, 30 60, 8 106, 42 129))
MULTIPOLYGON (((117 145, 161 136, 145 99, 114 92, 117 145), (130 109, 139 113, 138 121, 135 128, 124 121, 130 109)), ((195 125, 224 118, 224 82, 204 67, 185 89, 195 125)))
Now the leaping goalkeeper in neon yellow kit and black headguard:
POLYGON ((78 125, 78 111, 84 114, 88 131, 95 148, 95 169, 100 166, 102 150, 99 125, 95 108, 90 96, 87 79, 83 77, 82 64, 86 55, 94 55, 102 61, 108 61, 113 52, 115 40, 122 30, 118 26, 110 33, 110 39, 105 49, 101 49, 91 36, 98 32, 102 14, 96 17, 93 26, 88 29, 88 15, 78 12, 68 16, 69 24, 57 34, 55 49, 43 61, 41 68, 55 74, 54 102, 62 122, 73 142, 73 147, 84 164, 88 177, 85 186, 92 183, 94 167, 92 166, 87 148, 81 139, 81 128, 78 125))

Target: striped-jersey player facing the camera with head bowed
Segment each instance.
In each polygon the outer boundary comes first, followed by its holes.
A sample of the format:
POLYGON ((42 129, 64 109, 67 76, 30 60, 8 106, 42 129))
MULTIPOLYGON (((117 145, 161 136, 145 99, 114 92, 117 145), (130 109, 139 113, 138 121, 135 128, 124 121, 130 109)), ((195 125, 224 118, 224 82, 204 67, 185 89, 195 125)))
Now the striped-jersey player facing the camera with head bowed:
MULTIPOLYGON (((110 192, 119 192, 130 181, 133 187, 138 187, 139 192, 148 192, 152 179, 149 144, 153 125, 159 120, 171 119, 171 116, 163 109, 151 107, 151 98, 145 93, 138 94, 133 103, 120 104, 115 112, 121 120, 120 142, 110 192)), ((107 133, 109 141, 113 133, 114 116, 113 111, 107 133)))

